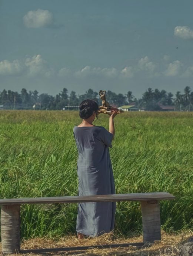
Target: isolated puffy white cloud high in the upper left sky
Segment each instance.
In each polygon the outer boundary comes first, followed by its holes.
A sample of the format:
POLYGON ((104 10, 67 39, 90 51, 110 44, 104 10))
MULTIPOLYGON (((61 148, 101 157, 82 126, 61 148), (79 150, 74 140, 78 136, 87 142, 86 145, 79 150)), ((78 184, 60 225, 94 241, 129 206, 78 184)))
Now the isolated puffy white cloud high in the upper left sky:
POLYGON ((53 14, 41 9, 29 11, 23 17, 23 22, 26 27, 46 27, 53 22, 53 14))

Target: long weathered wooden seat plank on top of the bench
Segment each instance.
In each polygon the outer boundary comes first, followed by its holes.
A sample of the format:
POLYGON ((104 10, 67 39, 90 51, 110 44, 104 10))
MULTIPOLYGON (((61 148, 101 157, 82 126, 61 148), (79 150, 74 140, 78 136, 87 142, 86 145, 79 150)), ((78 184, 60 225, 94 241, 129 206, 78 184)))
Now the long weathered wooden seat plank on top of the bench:
POLYGON ((136 193, 136 194, 113 194, 94 196, 65 196, 65 197, 37 197, 37 198, 10 198, 0 199, 0 205, 8 204, 47 204, 47 203, 82 203, 82 202, 105 202, 105 201, 150 201, 172 200, 172 194, 159 193, 136 193))

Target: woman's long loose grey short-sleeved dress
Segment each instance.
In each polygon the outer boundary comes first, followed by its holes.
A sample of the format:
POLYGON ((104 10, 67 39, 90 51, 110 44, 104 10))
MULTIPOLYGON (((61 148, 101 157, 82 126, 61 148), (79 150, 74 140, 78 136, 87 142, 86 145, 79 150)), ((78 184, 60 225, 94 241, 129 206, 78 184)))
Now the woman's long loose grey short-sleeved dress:
MULTIPOLYGON (((77 173, 79 196, 115 194, 109 147, 113 135, 104 127, 77 127, 74 138, 79 152, 77 173)), ((95 237, 114 228, 116 203, 79 203, 76 231, 95 237)))

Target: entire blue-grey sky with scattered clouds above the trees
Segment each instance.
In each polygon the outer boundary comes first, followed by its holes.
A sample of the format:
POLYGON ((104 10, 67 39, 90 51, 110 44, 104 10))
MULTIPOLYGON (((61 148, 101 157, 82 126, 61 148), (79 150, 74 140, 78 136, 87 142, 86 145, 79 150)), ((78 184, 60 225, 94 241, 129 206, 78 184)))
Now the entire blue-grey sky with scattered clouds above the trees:
POLYGON ((1 0, 0 91, 193 89, 192 10, 192 0, 1 0))

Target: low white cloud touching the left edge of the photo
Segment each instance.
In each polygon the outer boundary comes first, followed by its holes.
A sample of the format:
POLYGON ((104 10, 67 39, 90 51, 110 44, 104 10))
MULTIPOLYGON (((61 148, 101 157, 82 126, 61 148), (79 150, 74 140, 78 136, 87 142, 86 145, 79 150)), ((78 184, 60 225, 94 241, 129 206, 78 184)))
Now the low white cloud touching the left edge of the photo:
POLYGON ((0 75, 16 75, 21 73, 22 70, 23 66, 19 60, 13 60, 13 62, 3 60, 0 62, 0 75))

